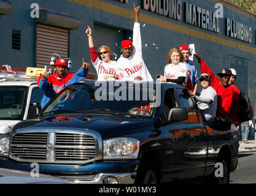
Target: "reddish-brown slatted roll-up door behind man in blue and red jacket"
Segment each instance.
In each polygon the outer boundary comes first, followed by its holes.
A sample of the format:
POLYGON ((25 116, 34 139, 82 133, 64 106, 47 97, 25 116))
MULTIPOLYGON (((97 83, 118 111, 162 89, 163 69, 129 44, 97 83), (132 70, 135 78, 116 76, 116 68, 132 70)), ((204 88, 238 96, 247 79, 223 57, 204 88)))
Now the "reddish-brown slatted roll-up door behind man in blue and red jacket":
POLYGON ((36 66, 49 66, 53 53, 69 57, 69 30, 37 24, 36 66))

